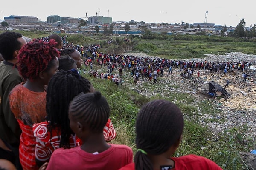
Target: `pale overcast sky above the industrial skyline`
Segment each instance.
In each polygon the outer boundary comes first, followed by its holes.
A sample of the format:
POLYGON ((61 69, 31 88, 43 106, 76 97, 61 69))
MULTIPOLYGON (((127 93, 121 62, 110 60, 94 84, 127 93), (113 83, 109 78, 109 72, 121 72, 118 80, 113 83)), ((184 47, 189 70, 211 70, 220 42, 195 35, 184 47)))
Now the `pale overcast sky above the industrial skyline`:
POLYGON ((20 0, 0 2, 0 20, 10 15, 34 16, 47 21, 47 16, 61 17, 112 17, 112 21, 144 21, 146 23, 207 23, 236 27, 244 18, 246 27, 256 24, 251 2, 235 0, 20 0), (68 3, 67 3, 68 2, 68 3), (247 3, 247 4, 242 4, 247 3))

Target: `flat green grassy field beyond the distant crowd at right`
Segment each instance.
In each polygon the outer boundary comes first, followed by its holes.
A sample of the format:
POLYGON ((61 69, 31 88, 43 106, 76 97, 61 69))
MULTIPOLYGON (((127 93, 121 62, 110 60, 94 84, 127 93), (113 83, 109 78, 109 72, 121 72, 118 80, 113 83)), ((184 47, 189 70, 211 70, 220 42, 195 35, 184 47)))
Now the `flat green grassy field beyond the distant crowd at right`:
MULTIPOLYGON (((168 36, 168 35, 166 35, 168 36)), ((204 58, 204 54, 225 54, 228 52, 242 52, 248 54, 256 54, 255 42, 239 42, 239 39, 230 39, 227 37, 206 37, 206 36, 172 36, 163 40, 144 40, 138 41, 138 45, 151 44, 157 49, 137 48, 135 49, 145 52, 148 55, 159 56, 168 59, 188 59, 188 58, 204 58), (173 38, 171 38, 173 37, 173 38), (177 38, 179 37, 179 38, 177 38), (187 38, 186 38, 187 37, 187 38), (194 37, 201 37, 200 40, 194 37), (215 40, 217 39, 217 40, 215 40)))

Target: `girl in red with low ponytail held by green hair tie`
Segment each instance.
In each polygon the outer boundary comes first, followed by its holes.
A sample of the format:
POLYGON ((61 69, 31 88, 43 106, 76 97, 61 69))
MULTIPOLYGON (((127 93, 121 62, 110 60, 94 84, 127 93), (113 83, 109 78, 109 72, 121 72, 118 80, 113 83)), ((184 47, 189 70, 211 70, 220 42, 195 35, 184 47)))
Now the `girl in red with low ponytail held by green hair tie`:
POLYGON ((221 170, 201 156, 171 157, 179 147, 183 126, 182 113, 174 103, 153 100, 145 104, 136 120, 134 163, 120 170, 221 170))

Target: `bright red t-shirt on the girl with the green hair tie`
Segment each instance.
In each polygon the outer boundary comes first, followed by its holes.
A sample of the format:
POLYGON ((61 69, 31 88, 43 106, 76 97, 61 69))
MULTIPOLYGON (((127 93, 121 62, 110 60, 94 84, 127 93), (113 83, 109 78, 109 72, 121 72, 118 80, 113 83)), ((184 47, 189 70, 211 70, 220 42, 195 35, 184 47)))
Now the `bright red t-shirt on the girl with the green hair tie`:
MULTIPOLYGON (((171 159, 175 162, 175 167, 172 170, 222 170, 215 162, 202 156, 186 155, 171 159)), ((119 170, 135 170, 134 163, 119 170)))

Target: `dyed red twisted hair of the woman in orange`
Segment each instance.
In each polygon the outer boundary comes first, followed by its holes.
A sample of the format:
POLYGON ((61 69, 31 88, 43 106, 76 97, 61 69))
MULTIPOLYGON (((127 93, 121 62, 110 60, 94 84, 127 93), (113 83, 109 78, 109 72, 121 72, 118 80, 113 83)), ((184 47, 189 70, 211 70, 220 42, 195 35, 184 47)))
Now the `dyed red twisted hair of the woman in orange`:
POLYGON ((18 70, 24 79, 35 80, 41 71, 47 71, 52 60, 59 57, 54 40, 49 43, 34 40, 27 43, 18 55, 18 70))

